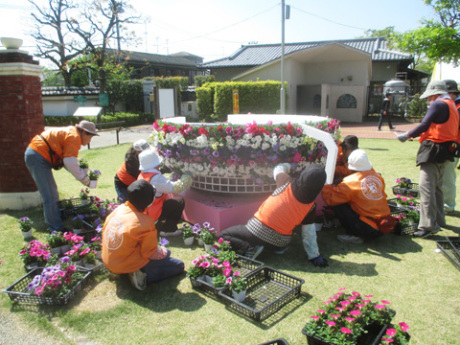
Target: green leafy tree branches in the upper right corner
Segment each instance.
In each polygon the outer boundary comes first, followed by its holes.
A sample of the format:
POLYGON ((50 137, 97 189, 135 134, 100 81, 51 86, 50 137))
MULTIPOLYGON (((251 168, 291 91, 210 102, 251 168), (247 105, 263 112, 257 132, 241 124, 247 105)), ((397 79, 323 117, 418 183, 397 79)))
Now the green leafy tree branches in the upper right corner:
POLYGON ((460 60, 460 0, 424 0, 438 21, 422 19, 423 27, 395 33, 392 42, 400 50, 432 61, 457 63, 460 60))

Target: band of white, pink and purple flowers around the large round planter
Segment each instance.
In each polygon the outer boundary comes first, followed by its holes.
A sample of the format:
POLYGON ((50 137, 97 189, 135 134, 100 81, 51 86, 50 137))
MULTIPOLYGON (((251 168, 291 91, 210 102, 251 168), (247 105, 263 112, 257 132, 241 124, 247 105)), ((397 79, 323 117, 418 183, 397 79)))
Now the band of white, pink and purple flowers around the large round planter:
MULTIPOLYGON (((339 122, 314 124, 338 135, 339 122)), ((299 172, 310 162, 324 163, 327 151, 317 140, 291 123, 282 125, 175 125, 153 124, 153 144, 174 174, 243 177, 257 184, 272 181, 278 163, 295 163, 299 172)))

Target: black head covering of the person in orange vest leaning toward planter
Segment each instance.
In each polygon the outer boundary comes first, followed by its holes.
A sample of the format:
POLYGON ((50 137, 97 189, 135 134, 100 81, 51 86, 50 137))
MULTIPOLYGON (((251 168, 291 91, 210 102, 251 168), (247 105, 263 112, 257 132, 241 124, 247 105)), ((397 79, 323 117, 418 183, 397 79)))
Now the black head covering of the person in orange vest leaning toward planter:
POLYGON ((292 181, 292 193, 303 204, 313 202, 326 182, 326 172, 318 164, 310 164, 292 181))

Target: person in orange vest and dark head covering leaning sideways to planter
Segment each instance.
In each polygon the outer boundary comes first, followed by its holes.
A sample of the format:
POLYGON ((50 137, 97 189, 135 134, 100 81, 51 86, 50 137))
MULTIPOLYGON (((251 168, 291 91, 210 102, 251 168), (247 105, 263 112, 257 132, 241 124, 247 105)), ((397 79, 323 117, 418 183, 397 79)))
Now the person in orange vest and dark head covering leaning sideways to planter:
MULTIPOLYGON (((235 225, 221 232, 220 236, 230 242, 237 254, 255 259, 265 247, 274 250, 286 248, 294 228, 306 223, 307 215, 314 209, 314 200, 326 181, 324 169, 311 164, 298 177, 291 179, 285 164, 275 167, 273 175, 277 189, 247 224, 235 225)), ((319 252, 309 259, 315 265, 327 266, 327 261, 319 252)))

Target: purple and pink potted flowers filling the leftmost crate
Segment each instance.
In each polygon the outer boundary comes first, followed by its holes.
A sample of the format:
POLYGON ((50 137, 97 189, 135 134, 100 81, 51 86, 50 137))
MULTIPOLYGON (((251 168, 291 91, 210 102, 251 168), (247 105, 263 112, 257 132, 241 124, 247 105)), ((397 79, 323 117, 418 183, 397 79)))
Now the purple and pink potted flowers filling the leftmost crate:
POLYGON ((45 267, 27 288, 37 296, 60 297, 70 292, 83 276, 83 273, 77 272, 76 267, 70 264, 68 257, 63 257, 55 266, 45 267))

